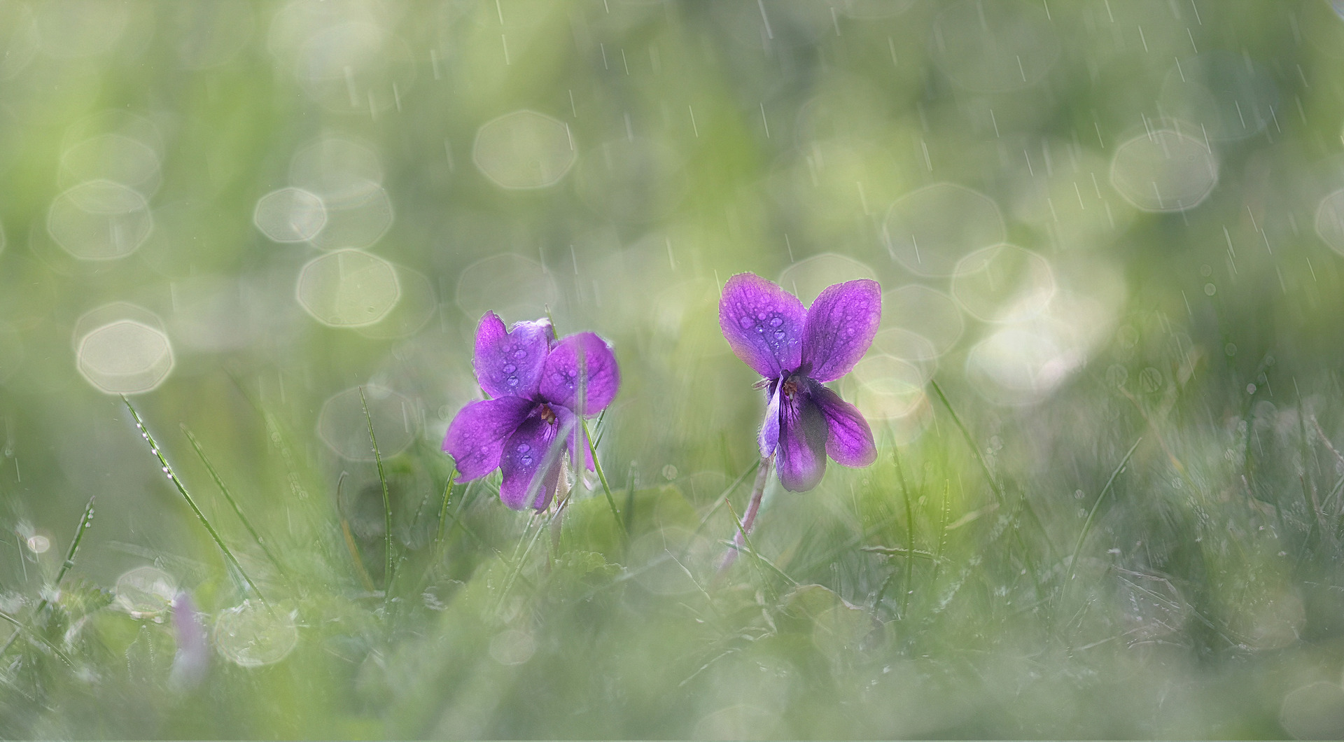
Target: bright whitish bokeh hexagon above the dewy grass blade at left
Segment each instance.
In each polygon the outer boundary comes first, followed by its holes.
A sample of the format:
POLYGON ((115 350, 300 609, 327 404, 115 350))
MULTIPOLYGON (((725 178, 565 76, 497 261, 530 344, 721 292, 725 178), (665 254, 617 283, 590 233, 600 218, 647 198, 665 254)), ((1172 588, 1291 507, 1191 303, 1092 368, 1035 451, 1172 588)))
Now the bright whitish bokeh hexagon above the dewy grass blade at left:
POLYGON ((172 344, 161 329, 116 320, 85 333, 75 345, 79 374, 108 394, 149 391, 173 367, 172 344))

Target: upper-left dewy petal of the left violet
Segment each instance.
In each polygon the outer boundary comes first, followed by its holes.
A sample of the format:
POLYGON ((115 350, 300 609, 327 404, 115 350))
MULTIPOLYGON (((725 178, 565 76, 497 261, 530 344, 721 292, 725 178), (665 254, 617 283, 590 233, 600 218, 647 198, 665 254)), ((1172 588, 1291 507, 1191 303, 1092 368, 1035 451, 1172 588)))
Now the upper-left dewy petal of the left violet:
POLYGON ((546 320, 516 323, 505 331, 504 321, 495 312, 481 316, 476 327, 472 368, 485 394, 536 397, 551 337, 554 332, 546 320))

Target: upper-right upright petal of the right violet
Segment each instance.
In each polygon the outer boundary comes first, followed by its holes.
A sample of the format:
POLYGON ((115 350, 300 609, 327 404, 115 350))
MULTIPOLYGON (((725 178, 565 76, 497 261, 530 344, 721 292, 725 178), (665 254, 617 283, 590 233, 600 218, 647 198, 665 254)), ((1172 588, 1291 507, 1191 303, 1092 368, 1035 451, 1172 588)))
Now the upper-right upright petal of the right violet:
POLYGON ((833 382, 868 352, 882 321, 882 286, 860 278, 827 286, 808 309, 802 362, 818 382, 833 382))

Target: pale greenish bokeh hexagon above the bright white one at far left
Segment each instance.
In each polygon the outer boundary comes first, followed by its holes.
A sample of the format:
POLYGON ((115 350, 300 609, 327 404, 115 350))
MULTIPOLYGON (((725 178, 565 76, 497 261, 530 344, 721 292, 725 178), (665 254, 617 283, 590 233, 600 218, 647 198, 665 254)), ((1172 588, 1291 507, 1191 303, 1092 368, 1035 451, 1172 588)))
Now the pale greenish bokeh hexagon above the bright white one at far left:
POLYGON ((112 261, 134 253, 153 226, 149 202, 110 180, 81 183, 58 195, 47 210, 51 238, 86 261, 112 261))

